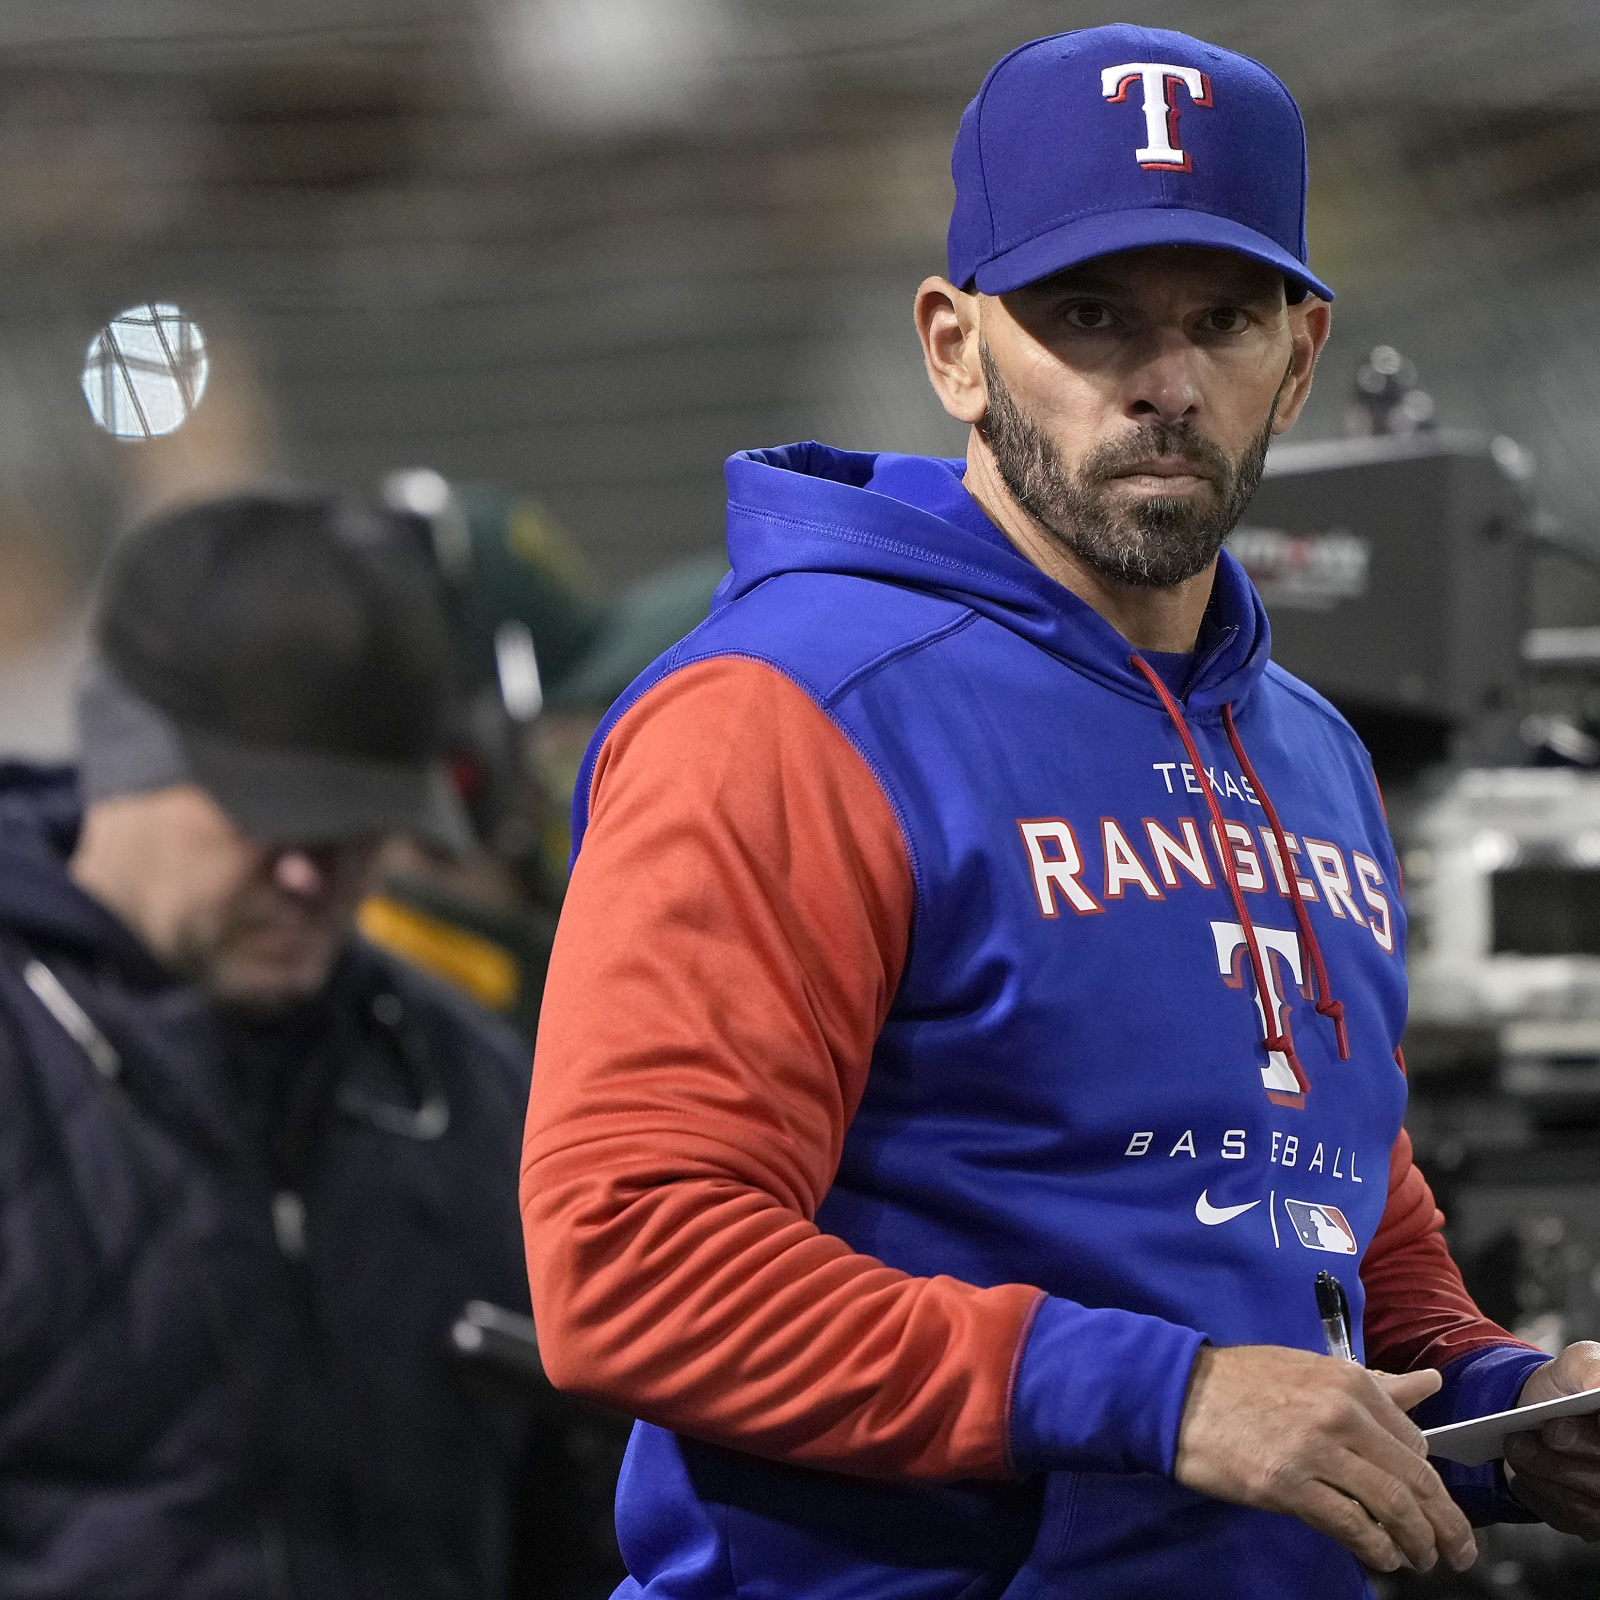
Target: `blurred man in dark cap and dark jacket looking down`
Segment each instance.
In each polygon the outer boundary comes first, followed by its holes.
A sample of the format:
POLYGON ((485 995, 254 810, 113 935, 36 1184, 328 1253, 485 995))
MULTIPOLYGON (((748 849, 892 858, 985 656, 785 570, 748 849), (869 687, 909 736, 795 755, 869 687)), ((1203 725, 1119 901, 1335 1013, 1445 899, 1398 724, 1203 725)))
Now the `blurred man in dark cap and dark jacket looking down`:
POLYGON ((386 835, 467 838, 392 533, 144 528, 80 773, 0 778, 0 1592, 506 1594, 530 1429, 446 1336, 526 1304, 526 1051, 352 939, 386 835))

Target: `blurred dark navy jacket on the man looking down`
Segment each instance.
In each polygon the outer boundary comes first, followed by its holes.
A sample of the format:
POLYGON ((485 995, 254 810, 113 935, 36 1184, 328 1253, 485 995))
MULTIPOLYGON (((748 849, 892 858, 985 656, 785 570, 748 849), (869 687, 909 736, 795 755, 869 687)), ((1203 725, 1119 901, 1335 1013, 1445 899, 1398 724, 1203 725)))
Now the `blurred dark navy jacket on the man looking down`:
POLYGON ((526 1307, 525 1046, 365 946, 229 1022, 77 827, 0 768, 0 1595, 499 1597, 528 1430, 446 1338, 526 1307))

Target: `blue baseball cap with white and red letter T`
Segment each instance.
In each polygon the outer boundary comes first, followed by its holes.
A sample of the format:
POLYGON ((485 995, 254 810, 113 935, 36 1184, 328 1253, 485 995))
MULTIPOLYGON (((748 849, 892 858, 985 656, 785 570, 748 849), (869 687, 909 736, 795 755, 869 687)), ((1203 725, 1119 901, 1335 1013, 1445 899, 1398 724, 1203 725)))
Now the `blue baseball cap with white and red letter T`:
POLYGON ((1306 269, 1306 126, 1278 78, 1187 34, 1125 22, 1005 56, 950 157, 950 282, 1005 294, 1094 256, 1208 245, 1306 269))

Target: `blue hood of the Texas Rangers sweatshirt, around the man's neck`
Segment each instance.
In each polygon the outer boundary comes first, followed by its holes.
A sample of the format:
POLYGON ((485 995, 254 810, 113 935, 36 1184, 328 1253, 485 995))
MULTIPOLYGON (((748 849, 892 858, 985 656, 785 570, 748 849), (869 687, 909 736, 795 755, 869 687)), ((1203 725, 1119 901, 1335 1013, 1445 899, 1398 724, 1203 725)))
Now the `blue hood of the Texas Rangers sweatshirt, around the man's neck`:
MULTIPOLYGON (((728 558, 717 605, 781 573, 845 573, 958 600, 1107 688, 1149 706, 1133 645, 1048 578, 962 488, 965 462, 782 445, 728 461, 728 558)), ((1267 614, 1226 550, 1181 696, 1186 709, 1238 704, 1272 651, 1267 614)))

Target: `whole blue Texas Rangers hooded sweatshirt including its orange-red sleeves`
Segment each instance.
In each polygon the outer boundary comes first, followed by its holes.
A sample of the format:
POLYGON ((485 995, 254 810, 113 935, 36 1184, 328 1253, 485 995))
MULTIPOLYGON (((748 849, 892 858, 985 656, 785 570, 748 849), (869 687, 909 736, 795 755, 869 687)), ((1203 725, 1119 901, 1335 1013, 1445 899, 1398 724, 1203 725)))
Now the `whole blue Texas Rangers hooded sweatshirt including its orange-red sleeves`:
POLYGON ((1371 765, 1226 554, 1141 658, 960 474, 733 458, 579 779, 523 1218, 550 1376, 643 1419, 624 1592, 1362 1595, 1171 1469, 1200 1344, 1320 1350, 1320 1267, 1424 1422, 1544 1360, 1411 1165, 1371 765))

